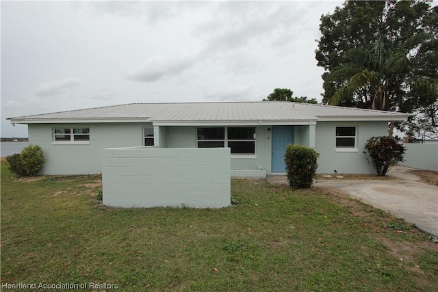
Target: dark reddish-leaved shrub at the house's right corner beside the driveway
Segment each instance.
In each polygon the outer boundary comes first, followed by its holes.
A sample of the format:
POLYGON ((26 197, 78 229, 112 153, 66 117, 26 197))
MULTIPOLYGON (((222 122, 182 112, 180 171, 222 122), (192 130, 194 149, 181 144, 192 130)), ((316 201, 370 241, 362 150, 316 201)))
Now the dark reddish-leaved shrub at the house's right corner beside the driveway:
POLYGON ((393 137, 371 137, 365 144, 363 154, 365 154, 366 159, 371 163, 377 175, 384 176, 392 166, 399 161, 404 161, 404 150, 406 149, 398 144, 393 137))

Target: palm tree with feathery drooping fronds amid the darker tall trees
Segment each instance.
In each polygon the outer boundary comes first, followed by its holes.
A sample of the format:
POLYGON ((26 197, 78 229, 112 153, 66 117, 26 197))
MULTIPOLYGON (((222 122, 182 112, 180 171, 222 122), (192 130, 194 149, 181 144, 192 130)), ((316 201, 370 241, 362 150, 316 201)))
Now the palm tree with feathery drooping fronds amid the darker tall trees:
MULTIPOLYGON (((417 40, 415 40, 417 41, 417 40)), ((437 81, 411 76, 414 50, 387 49, 380 38, 371 49, 355 48, 346 53, 350 62, 330 73, 331 81, 344 81, 331 98, 331 105, 341 105, 352 96, 361 96, 368 107, 387 111, 400 109, 400 103, 413 88, 427 96, 437 96, 437 81)), ((391 122, 389 136, 392 136, 391 122)))

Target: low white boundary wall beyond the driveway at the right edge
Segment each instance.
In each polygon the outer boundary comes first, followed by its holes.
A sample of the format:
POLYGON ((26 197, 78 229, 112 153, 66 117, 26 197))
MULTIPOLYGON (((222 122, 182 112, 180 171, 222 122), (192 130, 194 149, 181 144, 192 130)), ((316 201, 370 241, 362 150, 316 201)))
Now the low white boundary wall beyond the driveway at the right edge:
POLYGON ((404 162, 400 165, 419 170, 438 171, 438 144, 403 144, 404 162))

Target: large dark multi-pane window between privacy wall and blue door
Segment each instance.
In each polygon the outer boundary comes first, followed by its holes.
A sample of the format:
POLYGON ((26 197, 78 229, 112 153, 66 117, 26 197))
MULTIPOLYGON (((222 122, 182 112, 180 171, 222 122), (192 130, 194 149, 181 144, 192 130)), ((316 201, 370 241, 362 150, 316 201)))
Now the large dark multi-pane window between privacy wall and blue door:
POLYGON ((255 127, 198 128, 198 148, 229 147, 232 155, 255 155, 255 127))

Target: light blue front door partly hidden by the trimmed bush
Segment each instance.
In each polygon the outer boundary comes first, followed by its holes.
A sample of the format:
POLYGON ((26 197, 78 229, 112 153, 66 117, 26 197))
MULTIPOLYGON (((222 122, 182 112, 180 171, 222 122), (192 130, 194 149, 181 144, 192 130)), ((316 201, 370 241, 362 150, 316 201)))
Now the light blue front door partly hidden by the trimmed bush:
POLYGON ((294 126, 272 126, 272 172, 286 172, 285 150, 294 143, 294 126))

